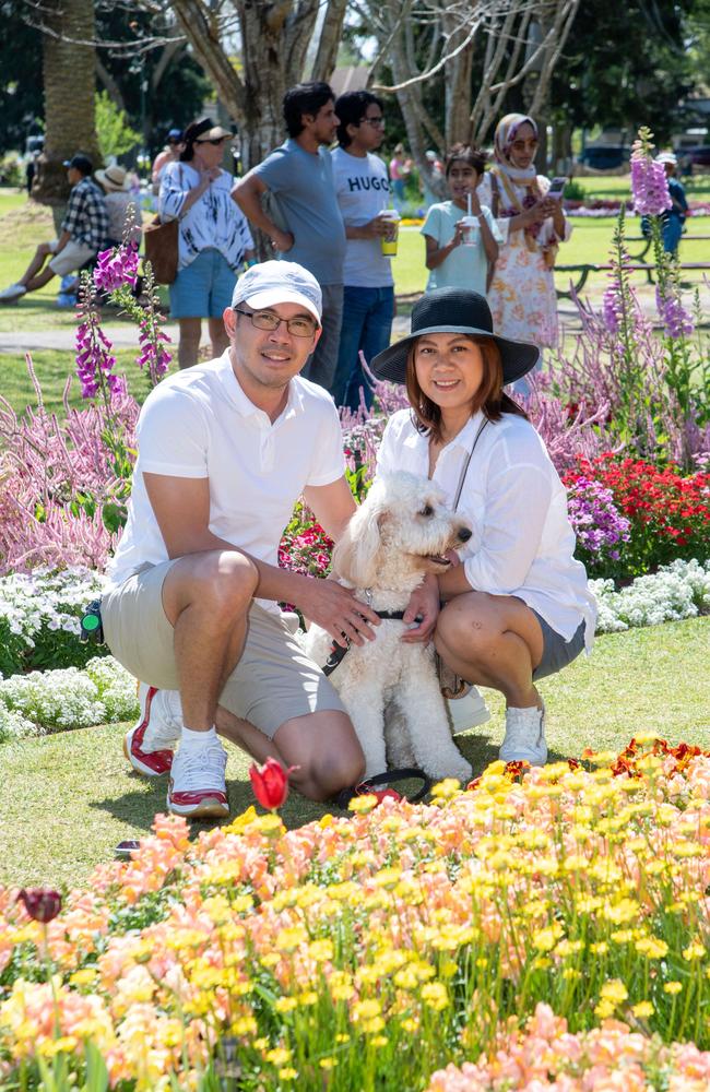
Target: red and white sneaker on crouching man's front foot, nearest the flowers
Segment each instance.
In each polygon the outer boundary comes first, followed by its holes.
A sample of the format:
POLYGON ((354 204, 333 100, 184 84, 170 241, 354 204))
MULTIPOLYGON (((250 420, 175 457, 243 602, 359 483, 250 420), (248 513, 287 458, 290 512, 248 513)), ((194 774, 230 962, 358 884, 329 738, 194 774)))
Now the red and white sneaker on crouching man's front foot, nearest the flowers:
POLYGON ((168 811, 191 819, 226 819, 229 815, 226 764, 227 752, 216 740, 180 747, 170 771, 168 811))

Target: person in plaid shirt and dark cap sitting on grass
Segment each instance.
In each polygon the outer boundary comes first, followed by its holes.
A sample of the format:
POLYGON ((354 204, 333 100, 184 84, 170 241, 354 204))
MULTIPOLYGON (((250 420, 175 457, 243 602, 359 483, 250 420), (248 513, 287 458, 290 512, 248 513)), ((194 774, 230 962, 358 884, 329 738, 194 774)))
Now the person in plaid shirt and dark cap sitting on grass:
POLYGON ((2 304, 14 304, 27 293, 44 288, 52 276, 75 273, 104 247, 108 212, 104 194, 91 178, 92 162, 87 155, 78 153, 64 166, 72 190, 61 235, 51 242, 39 244, 20 280, 0 292, 2 304))

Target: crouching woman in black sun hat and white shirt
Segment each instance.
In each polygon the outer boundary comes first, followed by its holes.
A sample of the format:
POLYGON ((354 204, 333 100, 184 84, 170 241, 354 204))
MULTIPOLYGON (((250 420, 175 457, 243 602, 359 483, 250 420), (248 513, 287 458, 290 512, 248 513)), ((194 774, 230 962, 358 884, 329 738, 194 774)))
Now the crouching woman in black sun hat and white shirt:
POLYGON ((547 759, 535 682, 582 649, 589 653, 596 620, 584 567, 573 558, 565 489, 543 440, 504 390, 539 356, 535 345, 494 333, 483 296, 439 288, 415 304, 410 336, 370 364, 378 379, 404 383, 411 404, 387 425, 378 475, 430 477, 473 527, 438 587, 428 578, 410 605, 423 621, 404 640, 434 633, 451 672, 500 690, 500 758, 533 765, 547 759))

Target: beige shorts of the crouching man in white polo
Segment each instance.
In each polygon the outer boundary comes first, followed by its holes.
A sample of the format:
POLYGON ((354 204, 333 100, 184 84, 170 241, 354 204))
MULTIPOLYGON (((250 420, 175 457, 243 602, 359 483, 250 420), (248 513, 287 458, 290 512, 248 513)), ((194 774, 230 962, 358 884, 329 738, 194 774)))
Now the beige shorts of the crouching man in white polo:
MULTIPOLYGON (((106 643, 123 667, 142 682, 177 690, 173 627, 163 609, 163 581, 173 565, 146 566, 102 600, 106 643)), ((295 716, 343 704, 320 667, 295 640, 296 615, 270 614, 253 603, 239 663, 220 704, 273 739, 295 716)))

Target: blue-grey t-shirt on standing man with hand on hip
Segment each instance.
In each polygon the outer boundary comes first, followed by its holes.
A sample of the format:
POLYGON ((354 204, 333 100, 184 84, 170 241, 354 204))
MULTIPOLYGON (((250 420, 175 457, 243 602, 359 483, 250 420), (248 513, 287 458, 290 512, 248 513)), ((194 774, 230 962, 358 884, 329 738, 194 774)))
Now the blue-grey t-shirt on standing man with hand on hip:
POLYGON ((298 262, 322 284, 343 283, 345 227, 335 197, 330 152, 305 152, 291 138, 255 167, 270 190, 274 219, 294 237, 279 258, 298 262))

